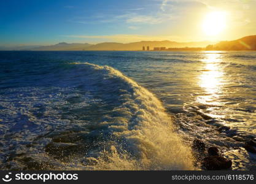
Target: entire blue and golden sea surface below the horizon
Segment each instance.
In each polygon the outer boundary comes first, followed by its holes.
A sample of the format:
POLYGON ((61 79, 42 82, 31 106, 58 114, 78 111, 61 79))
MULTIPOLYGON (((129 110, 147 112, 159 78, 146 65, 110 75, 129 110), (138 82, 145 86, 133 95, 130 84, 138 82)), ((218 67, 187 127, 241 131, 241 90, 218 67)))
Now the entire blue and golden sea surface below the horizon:
POLYGON ((255 52, 0 52, 0 169, 255 169, 255 52), (225 128, 227 126, 228 128, 225 128))

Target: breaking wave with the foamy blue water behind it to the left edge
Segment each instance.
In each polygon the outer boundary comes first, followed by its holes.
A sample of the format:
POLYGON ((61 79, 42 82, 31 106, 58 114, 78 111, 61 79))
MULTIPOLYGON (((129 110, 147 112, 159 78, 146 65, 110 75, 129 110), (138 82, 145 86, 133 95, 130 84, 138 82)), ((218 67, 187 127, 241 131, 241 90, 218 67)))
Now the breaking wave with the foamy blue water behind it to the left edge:
MULTIPOLYGON (((34 86, 7 88, 0 95, 6 114, 2 123, 9 122, 2 134, 14 136, 2 139, 3 154, 16 162, 12 167, 194 169, 192 151, 182 143, 161 102, 122 72, 90 63, 59 63, 40 76, 33 79, 34 86), (63 135, 71 138, 60 144, 63 135), (14 153, 10 144, 15 145, 14 153), (65 160, 69 149, 74 150, 65 160), (27 161, 31 159, 33 167, 27 161), (34 167, 41 161, 51 164, 34 167)), ((2 169, 9 168, 5 162, 2 169)))

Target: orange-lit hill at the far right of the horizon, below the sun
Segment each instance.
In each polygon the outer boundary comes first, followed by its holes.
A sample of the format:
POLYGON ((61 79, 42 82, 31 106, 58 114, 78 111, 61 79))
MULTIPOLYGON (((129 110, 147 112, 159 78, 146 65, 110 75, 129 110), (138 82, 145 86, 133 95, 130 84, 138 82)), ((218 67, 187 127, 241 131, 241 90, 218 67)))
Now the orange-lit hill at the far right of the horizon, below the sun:
POLYGON ((222 41, 215 45, 208 45, 206 50, 256 50, 256 35, 241 39, 222 41))

